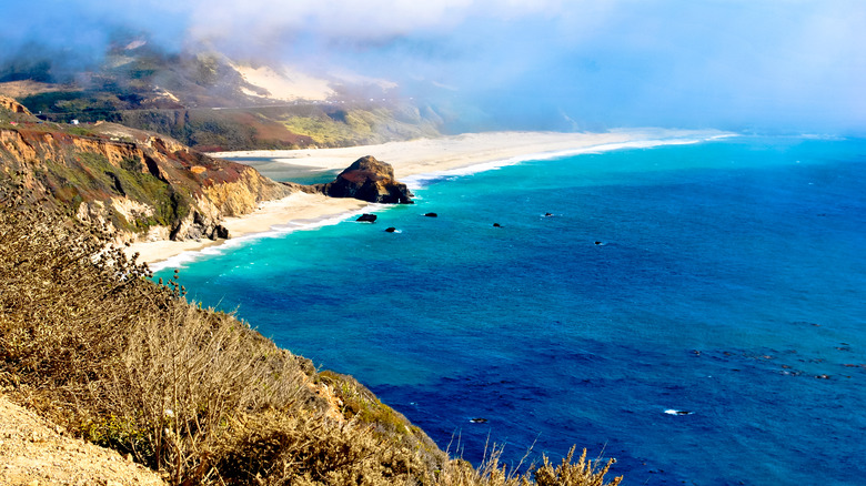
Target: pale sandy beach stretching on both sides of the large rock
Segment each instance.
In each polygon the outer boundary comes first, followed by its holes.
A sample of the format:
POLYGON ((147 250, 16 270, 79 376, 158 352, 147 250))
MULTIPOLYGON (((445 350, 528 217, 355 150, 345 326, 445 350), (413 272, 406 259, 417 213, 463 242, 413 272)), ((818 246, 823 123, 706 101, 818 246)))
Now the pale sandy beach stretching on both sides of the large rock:
MULTIPOLYGON (((342 171, 355 160, 373 155, 390 163, 399 181, 417 188, 421 181, 433 180, 440 175, 469 174, 526 160, 625 148, 697 143, 732 135, 714 130, 662 129, 617 130, 605 133, 489 132, 341 149, 216 152, 209 155, 223 159, 270 158, 274 162, 308 166, 318 171, 342 171)), ((215 250, 218 246, 243 244, 246 240, 274 231, 316 227, 328 222, 343 221, 370 205, 366 201, 355 199, 299 192, 282 200, 264 202, 253 213, 226 217, 223 225, 232 236, 229 240, 138 242, 131 244, 127 252, 130 255, 139 253, 139 262, 147 262, 153 270, 162 270, 179 266, 201 254, 219 252, 220 250, 215 250)))

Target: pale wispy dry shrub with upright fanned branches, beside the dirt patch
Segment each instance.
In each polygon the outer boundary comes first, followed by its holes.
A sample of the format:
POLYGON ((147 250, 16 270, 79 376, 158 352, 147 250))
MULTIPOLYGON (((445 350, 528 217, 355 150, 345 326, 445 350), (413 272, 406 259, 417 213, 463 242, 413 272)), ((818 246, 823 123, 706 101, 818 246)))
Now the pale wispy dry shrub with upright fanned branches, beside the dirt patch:
POLYGON ((209 472, 216 443, 239 413, 292 411, 310 398, 298 358, 231 315, 177 304, 132 328, 104 406, 141 427, 145 449, 129 444, 181 483, 209 472))

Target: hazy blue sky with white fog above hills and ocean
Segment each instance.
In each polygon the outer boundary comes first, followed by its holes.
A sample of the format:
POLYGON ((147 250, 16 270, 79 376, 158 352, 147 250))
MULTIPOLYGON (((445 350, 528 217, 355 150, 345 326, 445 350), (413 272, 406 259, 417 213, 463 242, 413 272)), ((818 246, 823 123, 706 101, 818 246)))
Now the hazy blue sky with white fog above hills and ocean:
POLYGON ((391 80, 466 129, 866 134, 863 0, 2 3, 0 61, 26 47, 71 69, 140 31, 172 50, 391 80))

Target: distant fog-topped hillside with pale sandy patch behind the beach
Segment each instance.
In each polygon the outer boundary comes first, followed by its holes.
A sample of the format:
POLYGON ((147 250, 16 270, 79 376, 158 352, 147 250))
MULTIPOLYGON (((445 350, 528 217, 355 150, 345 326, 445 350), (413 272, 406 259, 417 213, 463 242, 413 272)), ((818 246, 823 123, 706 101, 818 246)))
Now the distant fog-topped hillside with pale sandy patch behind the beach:
POLYGON ((387 83, 316 79, 210 51, 113 42, 100 65, 58 74, 52 60, 0 65, 0 94, 46 121, 115 122, 200 151, 346 146, 439 134, 429 105, 387 83))

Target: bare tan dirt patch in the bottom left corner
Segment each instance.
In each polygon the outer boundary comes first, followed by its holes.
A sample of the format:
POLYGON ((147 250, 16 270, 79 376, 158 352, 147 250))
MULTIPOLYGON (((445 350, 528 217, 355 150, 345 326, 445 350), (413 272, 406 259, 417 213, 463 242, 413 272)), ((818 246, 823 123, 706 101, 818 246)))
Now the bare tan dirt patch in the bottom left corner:
POLYGON ((0 484, 162 486, 157 473, 61 429, 0 396, 0 484))

